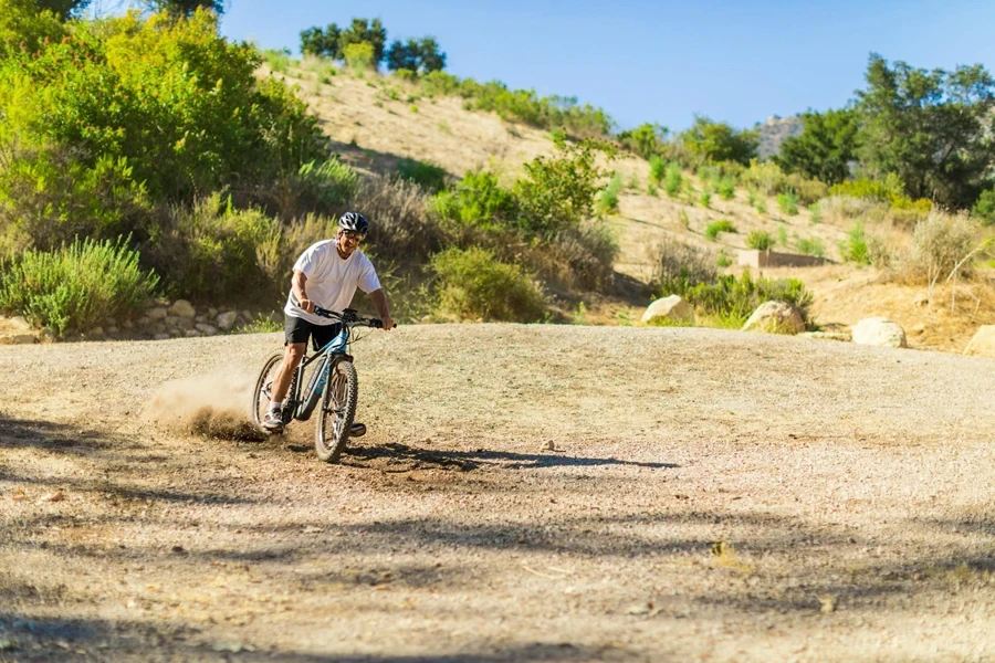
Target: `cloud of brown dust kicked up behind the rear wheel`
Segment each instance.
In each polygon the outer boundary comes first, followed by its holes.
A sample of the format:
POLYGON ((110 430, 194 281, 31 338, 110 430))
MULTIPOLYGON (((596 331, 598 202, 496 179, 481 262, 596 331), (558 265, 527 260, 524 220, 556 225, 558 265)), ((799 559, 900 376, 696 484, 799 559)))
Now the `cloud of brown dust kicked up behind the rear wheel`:
POLYGON ((249 419, 252 387, 252 380, 228 375, 171 380, 146 403, 142 419, 176 433, 260 441, 265 434, 249 419))

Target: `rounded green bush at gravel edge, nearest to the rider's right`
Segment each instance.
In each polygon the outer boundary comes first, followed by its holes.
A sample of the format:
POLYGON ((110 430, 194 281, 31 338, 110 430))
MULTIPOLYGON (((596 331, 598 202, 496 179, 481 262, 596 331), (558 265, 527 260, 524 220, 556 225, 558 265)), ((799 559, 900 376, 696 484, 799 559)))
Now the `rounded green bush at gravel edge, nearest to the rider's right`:
POLYGON ((438 278, 438 307, 460 318, 534 323, 545 301, 522 267, 500 262, 491 251, 474 246, 447 249, 432 256, 438 278))

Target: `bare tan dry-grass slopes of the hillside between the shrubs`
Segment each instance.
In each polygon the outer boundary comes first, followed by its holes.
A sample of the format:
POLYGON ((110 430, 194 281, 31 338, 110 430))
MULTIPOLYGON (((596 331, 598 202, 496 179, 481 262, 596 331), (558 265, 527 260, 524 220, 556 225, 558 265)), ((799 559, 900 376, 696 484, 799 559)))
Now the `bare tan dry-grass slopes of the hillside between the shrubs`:
MULTIPOLYGON (((260 73, 271 72, 263 69, 260 73)), ((318 116, 335 149, 362 170, 389 172, 400 158, 412 158, 441 166, 453 178, 479 166, 511 177, 522 164, 555 149, 545 130, 504 122, 492 113, 467 110, 459 97, 419 96, 413 85, 392 77, 328 75, 327 65, 307 61, 273 75, 298 86, 300 96, 318 116)), ((764 271, 766 276, 800 278, 815 294, 813 312, 821 325, 852 325, 863 317, 886 316, 904 327, 911 347, 961 351, 978 325, 995 324, 995 280, 991 275, 970 287, 957 286, 957 302, 952 307, 952 292, 943 284, 930 301, 925 287, 899 285, 878 270, 842 262, 839 243, 852 223, 849 219, 831 214, 813 219, 804 207, 788 215, 779 211, 774 197, 750 204, 742 187, 732 200, 713 193, 704 207, 700 200, 704 185, 690 172, 684 173, 690 187, 680 198, 669 198, 662 190, 648 193, 646 160, 622 155, 610 168, 625 182, 619 212, 609 220, 621 246, 616 270, 639 282, 651 280, 654 250, 664 238, 724 252, 733 263, 727 271, 739 272, 737 251, 746 246, 750 231, 760 230, 786 240, 786 246, 777 251, 796 252, 799 241, 825 248, 832 264, 764 271), (730 221, 736 232, 710 240, 706 227, 721 220, 730 221)), ((889 231, 893 241, 908 242, 908 231, 889 231)), ((584 320, 626 324, 638 319, 647 303, 591 295, 584 320)))

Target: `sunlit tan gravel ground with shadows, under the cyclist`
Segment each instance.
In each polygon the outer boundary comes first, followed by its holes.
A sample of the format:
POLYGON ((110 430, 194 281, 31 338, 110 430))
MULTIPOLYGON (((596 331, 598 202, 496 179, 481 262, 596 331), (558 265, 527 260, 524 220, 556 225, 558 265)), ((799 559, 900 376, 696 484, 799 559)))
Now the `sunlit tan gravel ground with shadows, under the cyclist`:
POLYGON ((406 327, 326 465, 279 344, 0 347, 0 661, 995 659, 995 360, 406 327))

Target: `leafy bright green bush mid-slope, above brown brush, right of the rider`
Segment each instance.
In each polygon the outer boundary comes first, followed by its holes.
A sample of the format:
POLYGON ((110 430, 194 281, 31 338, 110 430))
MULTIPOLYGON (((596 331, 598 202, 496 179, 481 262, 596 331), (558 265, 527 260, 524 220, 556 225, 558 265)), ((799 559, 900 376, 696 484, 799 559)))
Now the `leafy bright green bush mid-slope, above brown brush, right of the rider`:
POLYGON ((565 145, 556 158, 536 157, 525 164, 525 177, 515 182, 514 194, 519 223, 527 236, 551 240, 593 215, 599 182, 606 175, 596 156, 604 149, 601 144, 585 140, 565 145))

